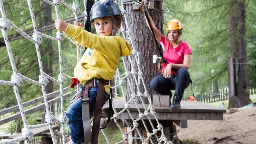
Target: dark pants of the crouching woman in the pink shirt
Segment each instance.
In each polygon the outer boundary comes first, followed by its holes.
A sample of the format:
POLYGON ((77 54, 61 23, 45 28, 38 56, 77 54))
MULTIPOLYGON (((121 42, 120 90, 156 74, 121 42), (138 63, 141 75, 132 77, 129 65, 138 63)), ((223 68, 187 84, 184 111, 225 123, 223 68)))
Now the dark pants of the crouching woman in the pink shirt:
POLYGON ((174 96, 177 96, 181 101, 190 81, 188 70, 182 67, 176 75, 171 75, 169 79, 163 78, 161 75, 155 76, 150 82, 150 87, 163 95, 171 95, 170 90, 175 89, 174 96))

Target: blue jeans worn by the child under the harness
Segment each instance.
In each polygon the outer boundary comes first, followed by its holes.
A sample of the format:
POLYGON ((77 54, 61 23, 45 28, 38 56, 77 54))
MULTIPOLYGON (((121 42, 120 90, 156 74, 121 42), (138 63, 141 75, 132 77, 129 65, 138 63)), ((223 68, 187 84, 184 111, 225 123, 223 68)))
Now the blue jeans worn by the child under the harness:
MULTIPOLYGON (((98 88, 90 88, 88 91, 88 97, 91 99, 92 112, 94 113, 96 96, 98 88)), ((83 91, 81 91, 83 92, 83 91)), ((66 117, 68 118, 68 127, 70 129, 69 135, 71 136, 71 144, 81 144, 85 141, 83 131, 83 119, 82 119, 82 103, 80 100, 83 97, 79 97, 75 102, 69 105, 66 117)), ((108 93, 104 94, 104 102, 108 99, 108 93)))

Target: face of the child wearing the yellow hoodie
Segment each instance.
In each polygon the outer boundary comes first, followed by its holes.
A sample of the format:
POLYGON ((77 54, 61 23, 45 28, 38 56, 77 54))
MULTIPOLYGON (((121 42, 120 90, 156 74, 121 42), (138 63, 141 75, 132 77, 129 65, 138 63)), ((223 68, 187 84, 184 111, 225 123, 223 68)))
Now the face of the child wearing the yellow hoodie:
MULTIPOLYGON (((94 19, 94 27, 98 36, 110 36, 112 33, 112 18, 94 19)), ((114 28, 116 28, 116 25, 114 25, 114 28)))

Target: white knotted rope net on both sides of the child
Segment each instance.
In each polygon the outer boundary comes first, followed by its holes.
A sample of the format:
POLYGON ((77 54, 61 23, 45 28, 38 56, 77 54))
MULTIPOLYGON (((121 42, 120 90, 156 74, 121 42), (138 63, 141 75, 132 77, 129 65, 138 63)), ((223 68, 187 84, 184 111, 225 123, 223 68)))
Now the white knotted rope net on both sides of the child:
MULTIPOLYGON (((55 12, 56 12, 56 18, 60 19, 59 17, 59 11, 58 11, 58 6, 60 5, 65 5, 68 9, 70 9, 75 16, 75 19, 78 21, 77 18, 77 14, 80 13, 83 16, 85 16, 85 18, 87 17, 87 13, 86 11, 82 11, 77 5, 75 0, 73 0, 73 5, 70 6, 68 3, 66 3, 64 0, 42 0, 46 3, 48 3, 49 5, 54 6, 55 8, 55 12)), ((29 144, 30 140, 33 138, 33 133, 31 131, 31 129, 33 128, 40 128, 40 127, 49 127, 50 130, 50 134, 52 136, 52 141, 53 144, 56 144, 56 138, 55 135, 53 133, 53 128, 52 125, 55 123, 58 123, 61 125, 61 131, 62 131, 62 137, 63 137, 63 144, 66 144, 66 137, 65 137, 65 130, 64 130, 64 124, 67 121, 67 118, 65 116, 65 112, 64 112, 64 97, 63 97, 63 84, 65 83, 66 78, 72 79, 73 77, 66 75, 63 73, 63 69, 62 69, 62 53, 61 53, 61 41, 63 41, 64 38, 67 38, 70 42, 72 42, 74 45, 76 45, 76 52, 77 52, 77 63, 79 62, 79 45, 77 44, 77 42, 75 42, 72 38, 70 38, 68 35, 66 35, 64 32, 62 31, 58 31, 56 33, 56 38, 49 36, 47 34, 43 34, 41 32, 39 32, 37 30, 37 26, 36 26, 36 21, 35 21, 35 16, 34 16, 34 12, 33 12, 33 7, 32 7, 32 1, 31 0, 27 0, 28 3, 28 8, 30 10, 30 15, 31 15, 31 20, 33 23, 33 30, 34 33, 32 35, 32 37, 30 37, 28 34, 26 34, 24 31, 22 31, 20 28, 18 28, 16 25, 14 25, 14 23, 12 23, 5 14, 5 9, 4 9, 4 5, 3 5, 3 1, 0 0, 0 11, 2 14, 2 18, 0 18, 0 29, 2 31, 2 35, 3 38, 5 40, 5 44, 6 44, 6 49, 8 52, 8 56, 10 59, 10 63, 11 63, 11 67, 13 69, 13 75, 11 75, 11 81, 5 81, 5 80, 0 80, 0 85, 10 85, 13 86, 13 90, 16 96, 16 100, 19 106, 19 110, 20 110, 20 114, 22 117, 22 121, 24 124, 24 128, 22 128, 22 135, 19 138, 15 138, 15 139, 8 139, 8 140, 2 140, 0 141, 0 144, 12 144, 14 142, 19 142, 19 141, 25 141, 25 144, 29 144), (16 30, 18 33, 20 33, 24 38, 27 38, 30 42, 35 44, 35 48, 36 48, 36 54, 38 57, 38 64, 39 64, 39 70, 40 70, 40 75, 39 77, 39 81, 35 81, 32 80, 31 78, 26 77, 25 75, 22 75, 18 72, 16 65, 15 65, 15 61, 13 58, 13 53, 11 51, 11 46, 9 44, 8 41, 8 31, 10 30, 10 28, 13 28, 14 30, 16 30), (58 75, 58 79, 55 79, 53 77, 51 77, 50 75, 46 74, 42 68, 42 61, 41 61, 41 53, 40 53, 40 47, 39 45, 42 43, 42 37, 46 38, 46 39, 51 39, 53 41, 58 41, 58 55, 59 55, 59 64, 60 64, 60 72, 58 75), (48 104, 48 100, 47 100, 47 95, 46 95, 46 86, 49 83, 49 80, 58 83, 60 85, 60 104, 61 104, 61 116, 59 118, 55 117, 49 108, 49 104, 48 104), (37 124, 37 125, 29 125, 24 113, 24 107, 22 106, 22 101, 20 99, 20 93, 19 93, 19 87, 22 86, 23 81, 27 81, 28 83, 32 83, 38 86, 41 86, 41 90, 42 90, 42 94, 44 97, 44 104, 45 104, 45 108, 46 108, 46 123, 44 124, 37 124)), ((123 3, 122 1, 119 2, 123 8, 123 3)), ((84 9, 86 9, 86 3, 84 0, 84 9)), ((122 10, 122 13, 124 14, 124 19, 126 21, 127 16, 126 16, 126 11, 122 10)), ((132 46, 133 48, 133 42, 130 39, 130 31, 129 30, 125 30, 123 27, 121 27, 121 29, 119 30, 119 32, 122 33, 126 33, 126 35, 128 35, 128 42, 129 44, 132 46)), ((124 35, 124 34, 123 34, 124 35)), ((162 144, 162 143, 172 143, 172 142, 168 142, 166 136, 163 133, 163 127, 162 125, 159 123, 157 117, 155 116, 155 111, 154 108, 152 107, 152 101, 151 101, 151 97, 148 94, 148 91, 146 89, 146 84, 144 83, 144 79, 143 79, 143 73, 140 69, 140 53, 138 53, 136 50, 133 49, 132 51, 132 55, 131 56, 127 56, 127 57, 122 57, 123 59, 123 63, 124 63, 124 69, 125 69, 125 73, 121 74, 119 69, 117 69, 116 71, 116 81, 117 84, 115 86, 113 86, 112 88, 115 90, 117 87, 121 88, 121 96, 124 98, 124 109, 121 110, 120 112, 118 112, 115 109, 115 106, 112 104, 113 107, 113 117, 111 117, 111 120, 115 122, 115 124, 117 125, 117 127, 119 128, 119 130, 121 131, 121 133, 123 134, 122 136, 122 140, 117 142, 117 144, 123 143, 123 142, 128 142, 128 139, 133 139, 128 137, 128 135, 130 133, 132 133, 133 131, 137 131, 139 137, 137 139, 141 140, 141 143, 145 144, 146 141, 151 141, 151 143, 155 143, 152 141, 152 138, 156 138, 158 143, 162 144), (127 59, 130 63, 130 69, 131 71, 128 71, 128 67, 127 64, 124 62, 125 59, 127 59), (132 60, 135 59, 135 60, 132 60), (136 71, 136 70, 137 71, 136 71), (131 91, 131 99, 127 99, 127 95, 126 92, 124 90, 124 88, 122 87, 122 85, 124 84, 124 81, 126 80, 127 86, 130 88, 131 91), (130 81, 135 81, 135 86, 137 87, 137 92, 132 91, 132 86, 130 81), (144 90, 140 91, 139 89, 139 85, 143 85, 144 90), (146 99, 145 99, 146 98, 146 99), (139 105, 137 104, 138 102, 135 101, 136 100, 140 100, 141 105, 143 106, 143 111, 141 111, 141 108, 139 108, 139 105), (147 103, 149 103, 149 105, 145 105, 145 102, 148 101, 147 103), (133 104, 134 103, 134 104, 133 104), (130 110, 129 110, 129 106, 130 105, 135 105, 137 108, 137 112, 138 112, 138 118, 135 119, 130 110), (129 116, 130 119, 132 120, 132 124, 133 124, 133 128, 129 131, 124 131, 124 129, 118 124, 118 119, 119 119, 119 115, 121 113, 123 113, 124 111, 126 111, 129 116), (151 119, 149 118, 149 116, 152 115, 154 116, 155 121, 157 122, 157 127, 155 128, 154 125, 151 122, 151 119), (150 127, 152 129, 152 132, 149 131, 149 128, 147 127, 145 120, 147 119, 150 123, 150 127), (147 137, 144 138, 143 135, 141 135, 140 131, 138 130, 138 121, 142 121, 142 124, 144 126, 144 129, 146 130, 146 132, 148 133, 147 137), (157 136, 157 133, 160 133, 160 136, 157 136)), ((134 86, 133 86, 134 87, 134 86)), ((79 89, 79 86, 77 86, 77 90, 79 89)), ((101 120, 101 127, 102 125, 104 125, 105 121, 107 121, 107 119, 103 119, 101 120)), ((107 141, 108 144, 110 144, 110 140, 108 138, 108 136, 106 135, 105 131, 102 129, 102 134, 105 137, 105 140, 107 141)))

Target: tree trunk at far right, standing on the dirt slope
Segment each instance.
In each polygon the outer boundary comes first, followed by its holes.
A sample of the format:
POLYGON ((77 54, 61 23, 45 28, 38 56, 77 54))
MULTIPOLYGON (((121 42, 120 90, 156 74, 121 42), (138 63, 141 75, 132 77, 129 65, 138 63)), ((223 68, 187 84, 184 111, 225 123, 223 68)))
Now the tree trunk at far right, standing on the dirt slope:
POLYGON ((250 103, 247 91, 247 49, 245 41, 245 0, 229 0, 228 79, 229 108, 250 103))

